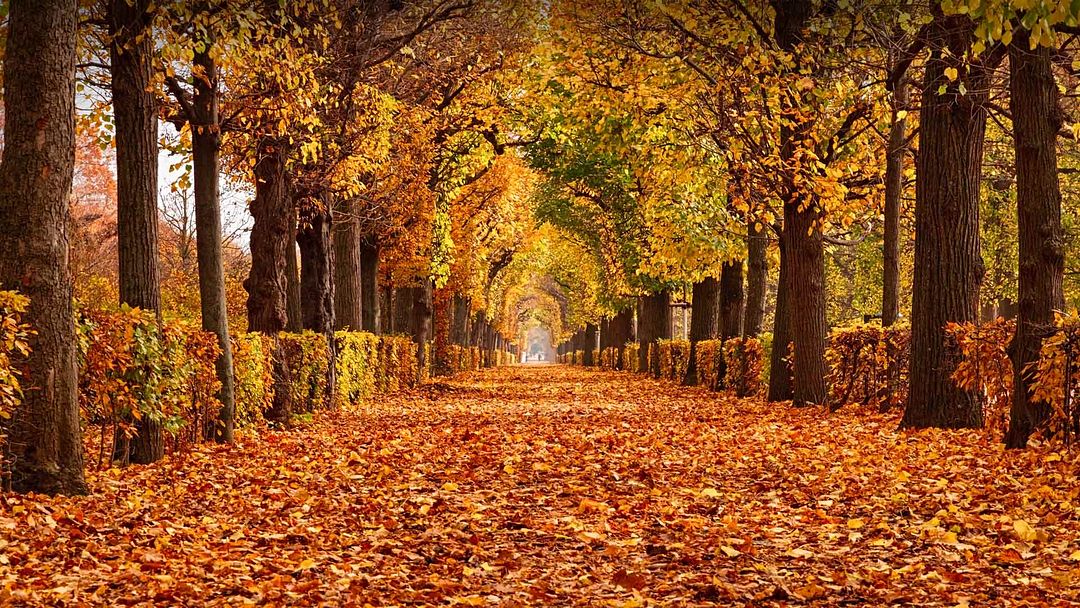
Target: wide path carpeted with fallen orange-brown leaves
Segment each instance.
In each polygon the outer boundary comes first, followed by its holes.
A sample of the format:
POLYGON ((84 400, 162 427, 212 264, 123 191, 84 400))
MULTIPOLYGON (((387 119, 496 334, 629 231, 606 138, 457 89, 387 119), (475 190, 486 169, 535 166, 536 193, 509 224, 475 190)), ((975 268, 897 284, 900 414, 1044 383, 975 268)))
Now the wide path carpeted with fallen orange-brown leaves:
POLYGON ((565 366, 2 496, 0 605, 1064 605, 1077 458, 565 366))

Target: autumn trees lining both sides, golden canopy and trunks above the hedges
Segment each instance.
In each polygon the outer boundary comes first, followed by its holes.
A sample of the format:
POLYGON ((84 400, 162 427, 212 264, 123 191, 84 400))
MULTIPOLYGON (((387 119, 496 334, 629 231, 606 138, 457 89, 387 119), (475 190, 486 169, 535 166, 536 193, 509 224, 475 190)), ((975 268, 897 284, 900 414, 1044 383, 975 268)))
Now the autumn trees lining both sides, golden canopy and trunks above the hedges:
MULTIPOLYGON (((826 403, 831 327, 909 323, 904 428, 984 424, 946 326, 1014 314, 1008 445, 1051 416, 1026 370, 1080 298, 1076 2, 3 10, 16 489, 85 491, 75 323, 120 307, 216 336, 221 443, 239 332, 332 361, 337 330, 407 335, 441 374, 450 344, 543 327, 589 356, 636 340, 645 368, 677 302, 691 349, 767 338, 767 397, 795 406, 826 403)), ((166 431, 131 422, 113 459, 160 459, 166 431)))

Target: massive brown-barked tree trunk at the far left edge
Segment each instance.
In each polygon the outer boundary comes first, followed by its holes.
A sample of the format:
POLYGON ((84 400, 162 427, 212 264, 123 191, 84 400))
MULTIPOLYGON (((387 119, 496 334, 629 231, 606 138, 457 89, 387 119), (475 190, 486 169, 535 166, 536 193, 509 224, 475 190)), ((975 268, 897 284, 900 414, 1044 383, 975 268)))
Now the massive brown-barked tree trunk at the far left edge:
POLYGON ((85 494, 68 202, 75 172, 75 0, 12 0, 3 64, 0 287, 30 298, 35 330, 4 468, 15 491, 85 494))

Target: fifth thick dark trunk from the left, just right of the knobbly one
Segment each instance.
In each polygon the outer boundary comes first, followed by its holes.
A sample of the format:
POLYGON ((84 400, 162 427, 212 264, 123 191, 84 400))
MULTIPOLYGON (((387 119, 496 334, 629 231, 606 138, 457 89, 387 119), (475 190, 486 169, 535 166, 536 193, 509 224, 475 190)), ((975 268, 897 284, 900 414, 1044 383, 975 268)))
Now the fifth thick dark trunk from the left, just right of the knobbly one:
POLYGON ((300 316, 303 328, 321 334, 329 350, 325 402, 330 407, 337 393, 337 341, 334 339, 334 207, 328 194, 309 202, 296 242, 300 246, 300 316))

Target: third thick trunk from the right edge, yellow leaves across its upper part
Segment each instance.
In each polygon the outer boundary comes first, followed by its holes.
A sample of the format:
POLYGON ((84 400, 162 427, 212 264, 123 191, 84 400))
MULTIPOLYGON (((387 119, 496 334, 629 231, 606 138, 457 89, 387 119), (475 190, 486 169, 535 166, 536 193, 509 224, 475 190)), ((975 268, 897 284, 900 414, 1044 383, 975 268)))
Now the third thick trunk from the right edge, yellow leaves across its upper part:
MULTIPOLYGON (((793 51, 802 38, 813 4, 805 0, 777 3, 777 43, 793 51)), ((794 70, 793 70, 794 71, 794 70)), ((810 119, 801 116, 802 93, 787 92, 781 98, 784 123, 780 129, 780 156, 784 162, 784 228, 781 239, 789 255, 787 279, 788 325, 795 344, 792 400, 796 406, 824 403, 825 390, 825 246, 821 208, 816 199, 795 183, 798 150, 807 138, 810 119), (798 309, 798 314, 792 314, 798 309)))

